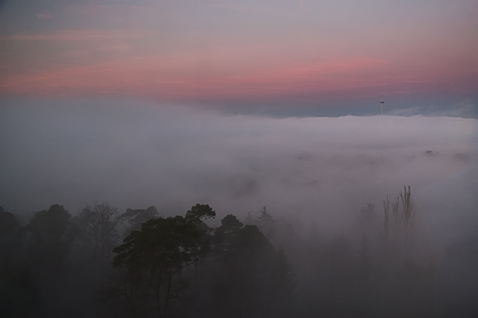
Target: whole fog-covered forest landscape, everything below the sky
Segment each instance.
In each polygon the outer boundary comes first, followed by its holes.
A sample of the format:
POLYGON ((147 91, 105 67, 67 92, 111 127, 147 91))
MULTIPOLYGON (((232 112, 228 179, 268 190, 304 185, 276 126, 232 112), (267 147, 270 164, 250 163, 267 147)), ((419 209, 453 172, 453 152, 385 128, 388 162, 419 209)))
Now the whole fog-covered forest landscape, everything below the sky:
POLYGON ((4 112, 2 316, 476 314, 474 119, 49 108, 4 112))

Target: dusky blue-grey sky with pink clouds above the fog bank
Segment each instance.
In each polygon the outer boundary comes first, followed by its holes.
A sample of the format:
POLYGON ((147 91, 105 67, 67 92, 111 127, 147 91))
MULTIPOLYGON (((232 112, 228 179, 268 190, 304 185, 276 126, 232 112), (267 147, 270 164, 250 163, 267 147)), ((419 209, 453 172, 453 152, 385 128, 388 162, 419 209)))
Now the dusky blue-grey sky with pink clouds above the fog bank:
MULTIPOLYGON (((478 117, 478 2, 0 4, 0 98, 478 117)), ((20 102, 20 101, 18 101, 20 102)))

